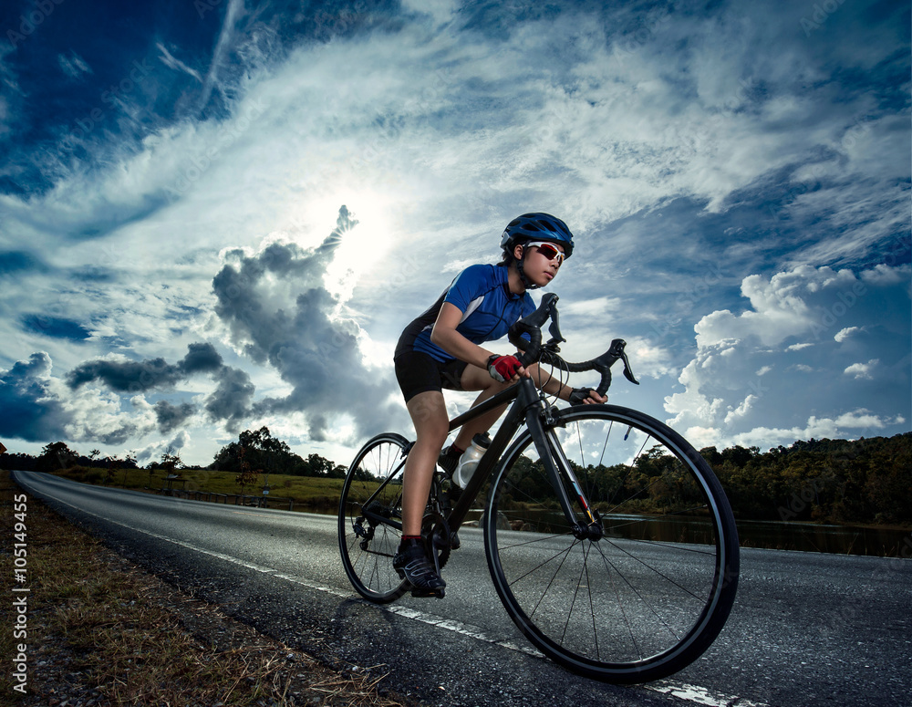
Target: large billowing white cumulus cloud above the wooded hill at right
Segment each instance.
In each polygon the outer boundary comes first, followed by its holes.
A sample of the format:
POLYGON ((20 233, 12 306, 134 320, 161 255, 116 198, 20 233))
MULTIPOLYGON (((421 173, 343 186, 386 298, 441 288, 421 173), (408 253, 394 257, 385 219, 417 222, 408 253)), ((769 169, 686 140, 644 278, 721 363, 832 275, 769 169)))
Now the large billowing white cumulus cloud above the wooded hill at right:
POLYGON ((907 379, 908 351, 907 339, 891 332, 908 332, 908 321, 902 307, 885 311, 882 303, 908 301, 907 281, 892 276, 907 266, 870 272, 799 266, 745 278, 750 308, 713 312, 694 327, 698 348, 679 376, 683 390, 665 399, 669 424, 716 431, 714 443, 761 446, 895 425, 908 407, 896 386, 907 379), (849 338, 846 352, 840 345, 849 338), (840 372, 851 383, 834 386, 840 372))

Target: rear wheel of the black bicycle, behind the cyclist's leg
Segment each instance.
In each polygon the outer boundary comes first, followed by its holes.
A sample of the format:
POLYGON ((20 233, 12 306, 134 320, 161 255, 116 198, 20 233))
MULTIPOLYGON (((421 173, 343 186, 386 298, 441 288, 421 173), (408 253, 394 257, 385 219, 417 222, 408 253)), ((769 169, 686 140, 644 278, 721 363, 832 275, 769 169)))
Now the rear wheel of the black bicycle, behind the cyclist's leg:
POLYGON ((402 527, 402 470, 408 450, 405 437, 393 432, 378 434, 348 467, 339 499, 342 567, 358 594, 381 604, 398 599, 408 587, 393 569, 402 527))

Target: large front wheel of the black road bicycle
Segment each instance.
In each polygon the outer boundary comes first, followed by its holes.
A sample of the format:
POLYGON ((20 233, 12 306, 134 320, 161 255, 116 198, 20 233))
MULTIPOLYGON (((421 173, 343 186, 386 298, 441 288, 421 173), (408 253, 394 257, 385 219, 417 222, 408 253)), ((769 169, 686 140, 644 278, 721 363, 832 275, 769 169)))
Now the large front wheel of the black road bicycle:
POLYGON ((561 411, 548 440, 575 476, 577 487, 561 480, 575 518, 523 431, 495 473, 484 522, 503 605, 539 650, 587 677, 645 682, 679 671, 719 634, 738 583, 720 483, 678 433, 627 408, 561 411))

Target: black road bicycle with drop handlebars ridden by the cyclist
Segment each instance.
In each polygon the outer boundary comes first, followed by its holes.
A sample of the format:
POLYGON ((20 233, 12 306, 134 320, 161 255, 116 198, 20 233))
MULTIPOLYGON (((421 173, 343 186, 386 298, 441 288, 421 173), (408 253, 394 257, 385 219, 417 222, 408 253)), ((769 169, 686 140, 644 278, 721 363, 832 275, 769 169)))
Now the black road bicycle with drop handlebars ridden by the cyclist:
MULTIPOLYGON (((560 357, 556 301, 545 295, 513 325, 523 366, 539 360, 540 374, 550 366, 562 377, 595 370, 604 395, 621 360, 637 383, 622 339, 590 361, 560 357), (542 344, 549 318, 552 338, 542 344)), ((466 487, 434 473, 422 537, 438 570, 458 549, 461 526, 477 520, 497 594, 545 656, 607 682, 656 680, 700 657, 729 616, 739 571, 731 506, 700 453, 639 411, 558 409, 529 378, 454 418, 450 430, 504 403, 512 405, 466 487)), ((411 588, 392 567, 411 445, 398 433, 378 434, 342 488, 342 564, 372 602, 411 588)))

